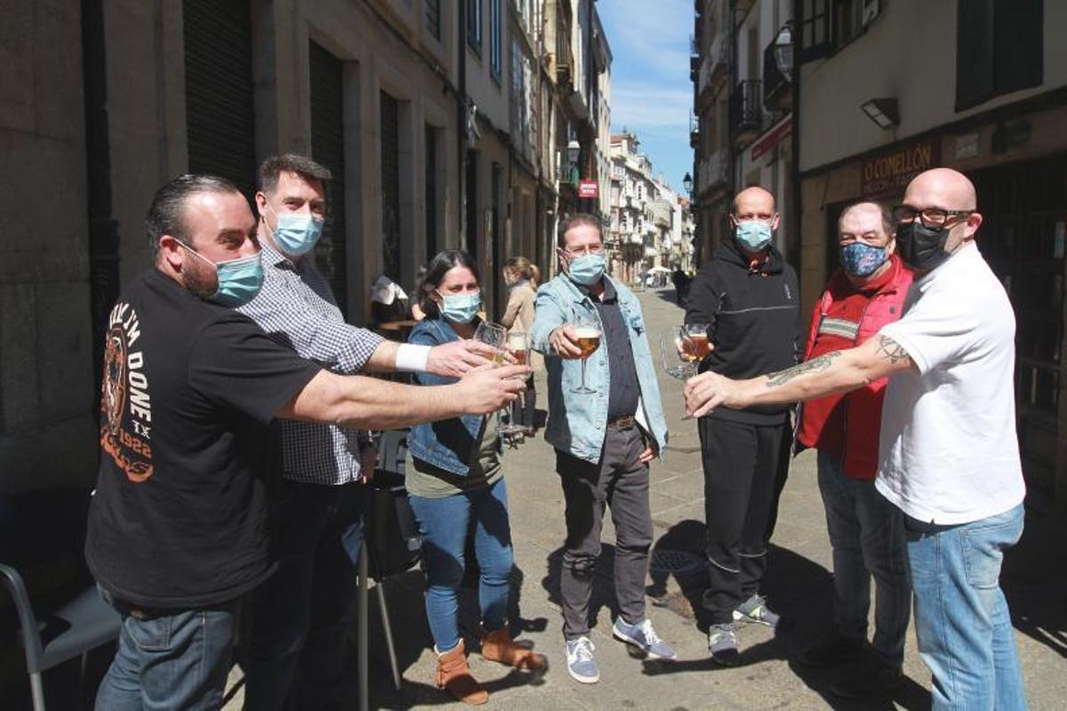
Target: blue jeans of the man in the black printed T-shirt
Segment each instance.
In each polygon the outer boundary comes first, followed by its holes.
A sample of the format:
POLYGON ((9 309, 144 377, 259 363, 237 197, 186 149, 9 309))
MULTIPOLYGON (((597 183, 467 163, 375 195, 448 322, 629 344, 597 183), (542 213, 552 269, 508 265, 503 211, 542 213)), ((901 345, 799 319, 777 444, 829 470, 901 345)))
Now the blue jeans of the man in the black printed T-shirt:
POLYGON ((118 650, 96 692, 97 711, 222 707, 239 603, 142 611, 100 595, 122 615, 118 650))

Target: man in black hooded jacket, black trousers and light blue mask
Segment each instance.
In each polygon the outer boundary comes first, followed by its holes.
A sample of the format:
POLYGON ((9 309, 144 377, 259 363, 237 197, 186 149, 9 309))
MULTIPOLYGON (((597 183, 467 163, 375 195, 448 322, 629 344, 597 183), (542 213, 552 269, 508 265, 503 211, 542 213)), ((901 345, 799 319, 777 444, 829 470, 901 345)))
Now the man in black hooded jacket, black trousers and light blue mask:
MULTIPOLYGON (((743 190, 730 214, 733 239, 692 280, 685 321, 707 324, 713 346, 702 372, 744 378, 797 362, 797 277, 771 243, 778 222, 774 195, 763 188, 743 190)), ((789 466, 790 410, 719 408, 698 427, 711 583, 703 601, 707 646, 714 661, 735 666, 738 623, 778 624, 760 595, 760 580, 789 466)))

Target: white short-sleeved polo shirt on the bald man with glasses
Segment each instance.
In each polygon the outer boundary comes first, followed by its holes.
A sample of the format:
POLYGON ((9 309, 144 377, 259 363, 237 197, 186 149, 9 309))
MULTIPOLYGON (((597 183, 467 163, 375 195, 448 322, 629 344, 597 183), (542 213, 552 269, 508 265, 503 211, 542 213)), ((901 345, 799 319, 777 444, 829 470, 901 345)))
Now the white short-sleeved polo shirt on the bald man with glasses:
POLYGON ((1025 495, 1015 425, 1015 313, 973 243, 914 282, 920 295, 879 332, 920 374, 889 379, 878 490, 905 514, 968 523, 1025 495))

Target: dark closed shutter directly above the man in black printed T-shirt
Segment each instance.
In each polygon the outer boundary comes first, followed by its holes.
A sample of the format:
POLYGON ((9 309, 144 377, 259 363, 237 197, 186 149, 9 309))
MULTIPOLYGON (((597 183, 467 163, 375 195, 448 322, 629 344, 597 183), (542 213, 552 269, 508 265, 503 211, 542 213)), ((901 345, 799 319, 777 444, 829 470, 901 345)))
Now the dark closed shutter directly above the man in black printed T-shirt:
POLYGON ((190 173, 256 181, 252 20, 248 0, 185 0, 186 132, 190 173))

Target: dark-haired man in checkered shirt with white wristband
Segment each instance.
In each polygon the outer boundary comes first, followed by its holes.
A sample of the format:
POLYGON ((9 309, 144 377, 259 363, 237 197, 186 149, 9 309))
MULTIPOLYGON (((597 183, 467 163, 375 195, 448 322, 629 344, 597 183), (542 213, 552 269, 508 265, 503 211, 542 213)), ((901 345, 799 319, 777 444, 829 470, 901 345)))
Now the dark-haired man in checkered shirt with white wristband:
MULTIPOLYGON (((487 362, 484 346, 473 341, 433 349, 398 344, 345 323, 312 252, 325 219, 329 180, 330 171, 302 156, 274 156, 259 166, 265 279, 239 310, 271 338, 335 373, 457 376, 487 362)), ((283 474, 275 511, 281 560, 250 599, 244 708, 340 708, 344 642, 363 542, 363 483, 373 473, 377 453, 367 432, 296 420, 276 421, 274 432, 283 474)))

